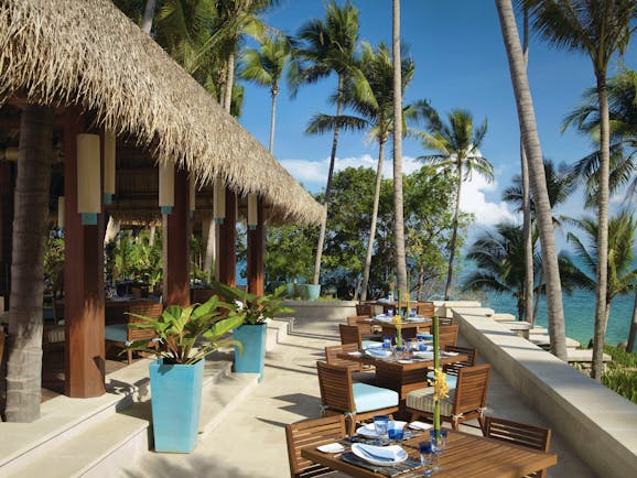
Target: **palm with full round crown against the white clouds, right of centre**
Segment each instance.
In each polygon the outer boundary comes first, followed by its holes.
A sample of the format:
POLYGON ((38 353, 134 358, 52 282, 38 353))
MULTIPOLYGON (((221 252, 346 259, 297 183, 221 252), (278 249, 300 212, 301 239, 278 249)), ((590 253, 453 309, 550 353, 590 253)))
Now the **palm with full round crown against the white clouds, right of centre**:
POLYGON ((474 170, 485 176, 489 183, 494 180, 494 167, 479 151, 487 132, 487 120, 485 119, 477 129, 474 129, 473 116, 468 111, 456 109, 447 115, 447 124, 443 123, 439 115, 431 110, 428 118, 428 129, 431 132, 422 131, 419 133, 423 148, 436 151, 435 154, 424 155, 420 159, 442 170, 453 170, 457 181, 455 217, 449 245, 449 270, 444 287, 445 301, 449 301, 453 279, 462 183, 471 178, 474 170))

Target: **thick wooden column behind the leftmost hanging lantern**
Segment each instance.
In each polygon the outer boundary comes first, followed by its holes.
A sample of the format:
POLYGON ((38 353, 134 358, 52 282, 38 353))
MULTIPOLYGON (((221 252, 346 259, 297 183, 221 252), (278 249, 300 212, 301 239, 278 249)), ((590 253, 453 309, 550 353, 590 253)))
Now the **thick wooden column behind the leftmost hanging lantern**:
POLYGON ((105 393, 104 214, 97 226, 83 226, 77 211, 76 135, 85 131, 84 117, 69 110, 64 127, 64 370, 65 394, 73 398, 105 393))

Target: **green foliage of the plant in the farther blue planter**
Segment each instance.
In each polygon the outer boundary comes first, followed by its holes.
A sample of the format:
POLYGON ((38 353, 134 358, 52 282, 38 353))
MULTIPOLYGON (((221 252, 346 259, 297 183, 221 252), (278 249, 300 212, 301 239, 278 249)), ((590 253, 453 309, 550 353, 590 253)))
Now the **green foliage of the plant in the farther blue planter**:
POLYGON ((291 308, 284 307, 285 286, 277 287, 272 294, 258 296, 245 292, 237 287, 217 283, 215 289, 227 300, 240 302, 241 313, 245 316, 245 323, 249 325, 262 324, 268 318, 274 317, 276 314, 292 312, 291 308))

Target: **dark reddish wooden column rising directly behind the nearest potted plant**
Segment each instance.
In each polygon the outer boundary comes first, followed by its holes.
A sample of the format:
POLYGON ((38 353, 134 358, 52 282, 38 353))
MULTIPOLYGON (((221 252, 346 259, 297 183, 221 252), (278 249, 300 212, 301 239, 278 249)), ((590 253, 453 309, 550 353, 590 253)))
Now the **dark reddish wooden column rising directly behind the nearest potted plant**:
POLYGON ((166 305, 191 304, 188 173, 175 166, 175 200, 171 214, 164 214, 163 301, 166 305))

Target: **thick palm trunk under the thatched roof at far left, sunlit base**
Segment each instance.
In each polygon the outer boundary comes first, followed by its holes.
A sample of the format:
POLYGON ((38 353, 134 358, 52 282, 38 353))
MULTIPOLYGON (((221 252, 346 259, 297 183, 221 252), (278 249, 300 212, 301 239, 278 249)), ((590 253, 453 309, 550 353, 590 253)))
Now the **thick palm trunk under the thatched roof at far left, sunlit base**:
POLYGON ((22 109, 15 180, 7 406, 9 422, 40 417, 44 245, 53 149, 53 110, 22 109))

